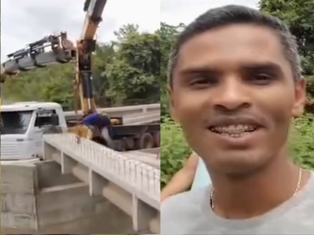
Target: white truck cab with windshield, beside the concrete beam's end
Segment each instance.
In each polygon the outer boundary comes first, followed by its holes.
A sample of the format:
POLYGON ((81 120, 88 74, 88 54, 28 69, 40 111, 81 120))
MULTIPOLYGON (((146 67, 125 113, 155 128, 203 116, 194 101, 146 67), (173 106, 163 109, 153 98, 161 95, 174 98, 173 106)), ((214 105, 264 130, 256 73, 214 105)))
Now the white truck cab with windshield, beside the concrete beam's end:
POLYGON ((67 131, 61 105, 22 102, 1 105, 0 160, 42 158, 42 136, 52 128, 67 131))

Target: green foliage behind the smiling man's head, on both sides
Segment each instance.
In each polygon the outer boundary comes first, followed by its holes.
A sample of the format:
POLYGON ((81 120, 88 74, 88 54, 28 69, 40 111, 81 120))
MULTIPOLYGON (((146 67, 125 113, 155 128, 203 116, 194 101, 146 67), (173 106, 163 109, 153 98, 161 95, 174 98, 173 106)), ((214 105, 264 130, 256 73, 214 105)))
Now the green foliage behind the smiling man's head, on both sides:
MULTIPOLYGON (((307 79, 308 102, 305 115, 296 119, 290 128, 289 151, 293 160, 304 168, 314 169, 314 2, 313 0, 261 0, 263 12, 285 21, 296 36, 307 79)), ((183 165, 191 149, 182 131, 169 117, 167 96, 167 60, 176 36, 184 28, 161 23, 161 188, 183 165)))

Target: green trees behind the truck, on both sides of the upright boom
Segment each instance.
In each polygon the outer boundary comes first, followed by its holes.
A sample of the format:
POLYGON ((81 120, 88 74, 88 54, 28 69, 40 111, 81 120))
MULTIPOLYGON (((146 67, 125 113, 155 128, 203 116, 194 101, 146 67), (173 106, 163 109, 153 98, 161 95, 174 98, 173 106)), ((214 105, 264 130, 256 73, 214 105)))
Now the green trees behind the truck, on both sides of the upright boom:
MULTIPOLYGON (((115 32, 116 41, 98 43, 93 55, 93 82, 100 107, 159 102, 160 30, 139 32, 127 24, 115 32)), ((74 108, 73 64, 52 65, 9 77, 3 103, 53 101, 74 108)), ((79 103, 79 102, 78 102, 79 103)))

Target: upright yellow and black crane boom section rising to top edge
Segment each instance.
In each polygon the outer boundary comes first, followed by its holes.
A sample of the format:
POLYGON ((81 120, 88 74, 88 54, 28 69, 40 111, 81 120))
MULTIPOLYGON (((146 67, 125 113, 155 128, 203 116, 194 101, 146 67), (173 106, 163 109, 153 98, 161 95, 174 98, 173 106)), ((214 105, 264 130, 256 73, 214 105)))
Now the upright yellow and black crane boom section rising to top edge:
POLYGON ((77 76, 76 85, 80 94, 80 104, 84 115, 96 112, 92 86, 92 52, 96 48, 94 39, 97 27, 102 21, 106 0, 86 0, 84 11, 85 21, 81 36, 77 42, 77 76))

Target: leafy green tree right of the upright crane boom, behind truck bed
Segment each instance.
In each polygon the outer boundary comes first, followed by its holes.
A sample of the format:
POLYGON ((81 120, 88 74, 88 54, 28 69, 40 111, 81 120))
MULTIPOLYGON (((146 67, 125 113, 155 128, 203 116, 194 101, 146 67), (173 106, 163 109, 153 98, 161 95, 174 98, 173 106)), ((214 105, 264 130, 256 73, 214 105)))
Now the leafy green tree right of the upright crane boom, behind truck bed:
POLYGON ((106 95, 115 103, 126 99, 160 97, 160 34, 139 33, 128 24, 116 32, 116 52, 104 71, 109 89, 106 95))

